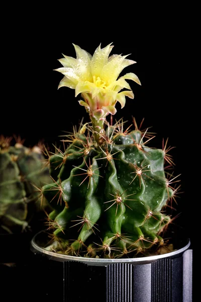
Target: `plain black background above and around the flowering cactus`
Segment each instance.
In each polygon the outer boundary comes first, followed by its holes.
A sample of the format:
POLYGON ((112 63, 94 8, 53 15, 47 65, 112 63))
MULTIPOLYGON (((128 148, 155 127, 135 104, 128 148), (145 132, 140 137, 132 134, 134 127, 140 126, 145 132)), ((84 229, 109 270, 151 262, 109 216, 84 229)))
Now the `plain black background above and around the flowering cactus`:
POLYGON ((129 58, 137 63, 124 73, 136 73, 142 86, 129 81, 135 98, 127 98, 123 109, 117 106, 115 118, 124 117, 130 123, 132 116, 138 123, 145 118, 144 128, 152 126, 157 132, 150 146, 161 147, 162 138, 169 137, 169 145, 176 147, 171 153, 176 164, 174 175, 181 173, 184 193, 175 205, 175 215, 181 215, 174 223, 182 225, 194 251, 195 223, 200 216, 195 186, 199 168, 195 12, 192 7, 165 6, 144 12, 123 3, 111 8, 106 3, 93 7, 58 3, 51 10, 48 4, 18 5, 12 7, 12 14, 7 9, 0 114, 0 134, 20 135, 27 145, 40 140, 59 145, 58 135, 71 131, 82 116, 87 122, 88 116, 74 90, 57 90, 62 79, 53 71, 61 67, 57 59, 62 53, 75 56, 72 43, 92 54, 100 43, 105 47, 113 42, 112 54, 131 54, 129 58))

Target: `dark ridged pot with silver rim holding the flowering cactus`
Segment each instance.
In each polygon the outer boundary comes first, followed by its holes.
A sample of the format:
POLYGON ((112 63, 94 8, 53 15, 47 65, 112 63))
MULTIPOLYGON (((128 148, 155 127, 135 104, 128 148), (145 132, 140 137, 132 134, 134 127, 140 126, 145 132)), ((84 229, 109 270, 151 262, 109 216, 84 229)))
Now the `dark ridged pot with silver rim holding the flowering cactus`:
POLYGON ((191 302, 192 250, 189 240, 163 255, 96 259, 43 248, 47 234, 31 242, 36 288, 43 301, 191 302))

